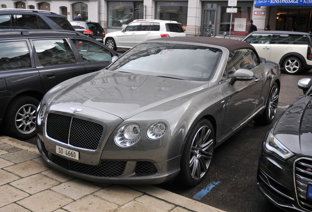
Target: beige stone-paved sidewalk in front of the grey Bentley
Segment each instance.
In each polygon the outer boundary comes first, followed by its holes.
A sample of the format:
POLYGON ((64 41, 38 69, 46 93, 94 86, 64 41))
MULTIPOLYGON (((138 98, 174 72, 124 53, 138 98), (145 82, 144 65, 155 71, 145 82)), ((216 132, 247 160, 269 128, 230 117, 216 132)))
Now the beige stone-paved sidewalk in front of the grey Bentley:
POLYGON ((222 212, 153 185, 98 185, 48 167, 36 146, 0 136, 0 212, 222 212))

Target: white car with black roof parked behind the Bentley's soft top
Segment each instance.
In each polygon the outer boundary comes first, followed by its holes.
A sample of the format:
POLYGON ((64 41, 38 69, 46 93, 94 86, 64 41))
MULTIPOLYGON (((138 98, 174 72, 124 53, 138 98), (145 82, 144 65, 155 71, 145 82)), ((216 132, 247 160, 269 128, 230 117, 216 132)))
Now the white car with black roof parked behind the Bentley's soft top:
POLYGON ((280 64, 286 74, 312 69, 312 34, 296 31, 254 31, 243 41, 253 45, 260 57, 280 64))

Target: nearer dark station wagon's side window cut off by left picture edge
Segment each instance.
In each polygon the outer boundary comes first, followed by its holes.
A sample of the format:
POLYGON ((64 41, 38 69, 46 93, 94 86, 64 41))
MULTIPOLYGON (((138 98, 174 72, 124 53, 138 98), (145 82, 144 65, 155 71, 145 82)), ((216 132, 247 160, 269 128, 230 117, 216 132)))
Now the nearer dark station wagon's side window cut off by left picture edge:
POLYGON ((31 60, 26 41, 0 42, 0 70, 30 67, 31 60))

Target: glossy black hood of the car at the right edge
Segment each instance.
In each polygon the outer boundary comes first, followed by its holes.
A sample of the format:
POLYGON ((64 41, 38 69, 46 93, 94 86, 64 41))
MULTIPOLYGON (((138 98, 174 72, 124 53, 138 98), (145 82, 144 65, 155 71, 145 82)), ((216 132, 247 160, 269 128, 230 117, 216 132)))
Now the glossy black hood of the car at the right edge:
POLYGON ((312 156, 312 98, 302 96, 276 122, 273 134, 298 156, 312 156))

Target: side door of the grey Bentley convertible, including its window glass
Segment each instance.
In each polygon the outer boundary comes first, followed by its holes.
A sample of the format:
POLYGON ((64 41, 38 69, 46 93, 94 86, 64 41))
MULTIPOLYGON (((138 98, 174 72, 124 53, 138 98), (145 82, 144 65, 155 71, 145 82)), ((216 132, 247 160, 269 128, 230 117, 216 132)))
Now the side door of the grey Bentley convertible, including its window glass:
POLYGON ((248 81, 236 81, 233 85, 230 80, 222 83, 222 89, 226 97, 226 112, 222 128, 222 134, 235 130, 248 120, 259 106, 263 77, 261 65, 255 66, 253 58, 247 49, 240 49, 230 53, 228 60, 229 79, 238 69, 249 69, 255 75, 248 81))

